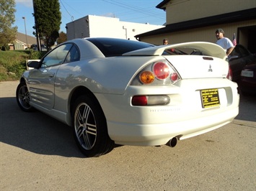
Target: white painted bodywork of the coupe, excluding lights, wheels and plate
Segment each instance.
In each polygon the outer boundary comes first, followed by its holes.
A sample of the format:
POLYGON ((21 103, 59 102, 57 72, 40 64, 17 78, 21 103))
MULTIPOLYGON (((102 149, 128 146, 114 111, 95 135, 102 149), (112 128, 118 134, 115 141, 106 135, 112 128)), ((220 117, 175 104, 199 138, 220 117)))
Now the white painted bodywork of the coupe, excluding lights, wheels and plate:
POLYGON ((174 137, 187 139, 228 124, 239 112, 237 83, 226 79, 226 54, 213 43, 186 42, 105 57, 86 39, 70 42, 79 47, 79 61, 22 75, 32 95, 30 105, 69 126, 71 96, 78 87, 86 87, 97 98, 107 132, 116 144, 154 146, 167 144, 174 137), (162 55, 172 48, 193 48, 204 55, 162 55), (181 79, 172 85, 131 85, 144 67, 159 60, 167 60, 181 79), (43 84, 30 79, 33 73, 40 77, 49 74, 49 78, 43 84), (212 89, 218 90, 220 104, 203 108, 200 91, 212 89), (37 100, 41 95, 45 95, 40 99, 45 103, 37 100), (134 95, 168 95, 170 102, 166 106, 133 106, 134 95))

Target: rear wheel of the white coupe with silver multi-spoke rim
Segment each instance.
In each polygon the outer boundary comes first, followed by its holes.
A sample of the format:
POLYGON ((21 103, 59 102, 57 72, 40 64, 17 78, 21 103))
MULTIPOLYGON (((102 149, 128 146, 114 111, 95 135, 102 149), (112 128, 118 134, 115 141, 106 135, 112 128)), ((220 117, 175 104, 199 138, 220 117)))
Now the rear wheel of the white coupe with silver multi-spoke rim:
POLYGON ((76 99, 72 109, 74 138, 87 157, 99 157, 114 148, 107 134, 107 122, 100 104, 87 95, 76 99))

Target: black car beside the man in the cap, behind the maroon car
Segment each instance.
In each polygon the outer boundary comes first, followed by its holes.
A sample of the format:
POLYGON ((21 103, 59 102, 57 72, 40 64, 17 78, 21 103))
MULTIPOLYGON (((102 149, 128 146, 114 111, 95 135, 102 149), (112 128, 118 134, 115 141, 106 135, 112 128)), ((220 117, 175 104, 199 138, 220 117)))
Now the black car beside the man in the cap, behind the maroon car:
POLYGON ((255 62, 256 57, 242 45, 237 45, 229 56, 229 66, 233 74, 232 81, 238 82, 244 66, 255 62))

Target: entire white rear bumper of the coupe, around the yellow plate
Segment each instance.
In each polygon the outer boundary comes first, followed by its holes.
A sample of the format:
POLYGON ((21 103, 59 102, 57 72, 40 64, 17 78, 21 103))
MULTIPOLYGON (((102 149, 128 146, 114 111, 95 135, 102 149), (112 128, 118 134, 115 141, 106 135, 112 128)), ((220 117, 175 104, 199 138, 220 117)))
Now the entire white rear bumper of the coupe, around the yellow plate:
POLYGON ((237 83, 225 79, 182 80, 164 87, 129 86, 123 95, 97 94, 116 144, 156 146, 187 139, 230 123, 239 113, 237 83), (200 90, 217 88, 220 105, 202 107, 200 90), (133 95, 168 95, 167 106, 132 106, 133 95))

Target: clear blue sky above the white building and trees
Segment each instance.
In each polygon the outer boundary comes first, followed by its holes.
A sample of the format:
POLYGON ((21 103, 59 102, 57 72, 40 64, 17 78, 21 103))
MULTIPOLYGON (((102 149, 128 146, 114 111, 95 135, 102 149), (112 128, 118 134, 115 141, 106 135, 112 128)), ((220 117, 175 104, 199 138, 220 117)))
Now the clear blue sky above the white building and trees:
MULTIPOLYGON (((32 0, 15 0, 15 23, 18 32, 34 36, 35 19, 32 0), (25 17, 25 19, 22 19, 25 17), (26 25, 26 27, 25 27, 26 25)), ((115 17, 121 22, 136 22, 163 25, 166 13, 156 6, 162 0, 59 0, 61 6, 61 29, 66 33, 66 24, 87 15, 115 17)))

